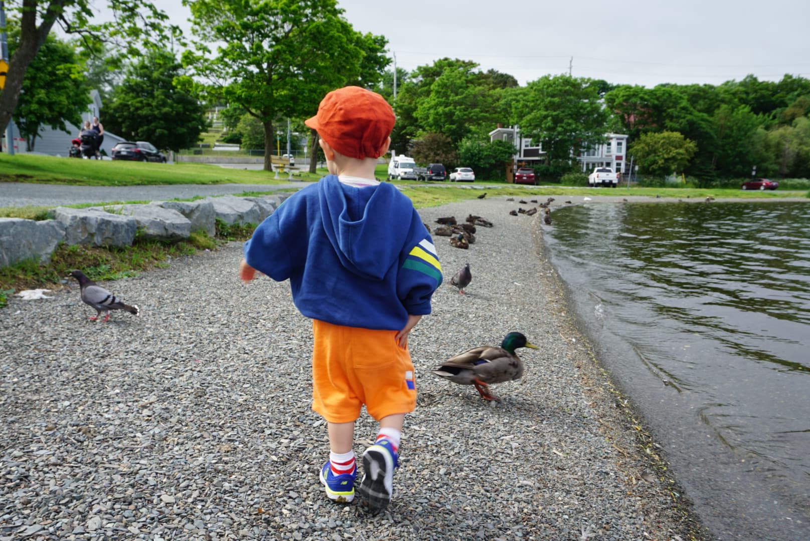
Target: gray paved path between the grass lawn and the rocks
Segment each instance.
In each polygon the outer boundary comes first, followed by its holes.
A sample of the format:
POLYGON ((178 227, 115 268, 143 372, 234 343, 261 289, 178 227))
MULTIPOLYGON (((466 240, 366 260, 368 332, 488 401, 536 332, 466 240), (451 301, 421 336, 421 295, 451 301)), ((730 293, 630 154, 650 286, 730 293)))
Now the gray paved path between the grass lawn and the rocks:
POLYGON ((28 182, 0 182, 0 208, 51 207, 79 203, 113 201, 164 201, 190 199, 197 196, 241 194, 243 192, 269 192, 302 188, 309 182, 284 184, 173 184, 139 186, 75 186, 64 184, 33 184, 28 182))

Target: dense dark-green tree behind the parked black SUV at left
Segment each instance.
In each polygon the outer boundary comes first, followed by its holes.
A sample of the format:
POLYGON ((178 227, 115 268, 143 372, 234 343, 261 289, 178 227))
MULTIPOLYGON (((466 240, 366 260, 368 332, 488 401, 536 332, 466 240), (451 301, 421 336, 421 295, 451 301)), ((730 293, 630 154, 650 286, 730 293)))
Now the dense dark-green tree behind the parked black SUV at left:
POLYGON ((188 148, 207 130, 205 108, 190 86, 173 53, 148 53, 113 91, 112 102, 104 108, 104 125, 158 148, 188 148))

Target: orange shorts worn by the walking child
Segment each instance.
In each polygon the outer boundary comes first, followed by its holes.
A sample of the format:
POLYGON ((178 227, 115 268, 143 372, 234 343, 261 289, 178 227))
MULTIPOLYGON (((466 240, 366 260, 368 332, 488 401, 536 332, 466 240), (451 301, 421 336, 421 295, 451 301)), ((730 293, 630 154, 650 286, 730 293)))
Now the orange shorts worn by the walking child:
POLYGON ((360 408, 376 420, 416 407, 413 363, 395 330, 313 319, 312 409, 330 423, 351 423, 360 408))

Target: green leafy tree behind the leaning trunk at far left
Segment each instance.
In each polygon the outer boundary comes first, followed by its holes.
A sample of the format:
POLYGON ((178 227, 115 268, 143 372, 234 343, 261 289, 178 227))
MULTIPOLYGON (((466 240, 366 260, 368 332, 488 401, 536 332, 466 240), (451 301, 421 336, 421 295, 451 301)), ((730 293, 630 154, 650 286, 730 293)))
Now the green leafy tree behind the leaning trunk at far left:
MULTIPOLYGON (((10 37, 13 51, 19 40, 19 29, 15 28, 10 37)), ((69 133, 66 122, 79 126, 90 101, 90 87, 79 58, 66 42, 48 36, 31 67, 14 113, 19 134, 26 139, 29 151, 34 150, 43 126, 65 133, 69 133)))

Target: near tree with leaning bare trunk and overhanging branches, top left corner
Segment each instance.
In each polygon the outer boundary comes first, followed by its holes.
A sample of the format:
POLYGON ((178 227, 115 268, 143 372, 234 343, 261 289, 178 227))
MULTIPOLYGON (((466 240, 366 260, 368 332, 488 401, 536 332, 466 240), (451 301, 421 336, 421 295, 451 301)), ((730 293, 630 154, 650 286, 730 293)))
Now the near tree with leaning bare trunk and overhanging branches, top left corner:
POLYGON ((19 45, 9 59, 6 86, 0 92, 0 132, 19 101, 23 80, 45 39, 59 23, 68 34, 78 34, 89 43, 107 40, 116 42, 117 53, 139 55, 143 49, 165 43, 181 36, 176 25, 166 25, 168 16, 147 0, 109 0, 113 21, 92 23, 94 6, 90 0, 10 0, 6 2, 9 16, 19 12, 19 45))

